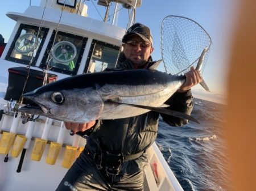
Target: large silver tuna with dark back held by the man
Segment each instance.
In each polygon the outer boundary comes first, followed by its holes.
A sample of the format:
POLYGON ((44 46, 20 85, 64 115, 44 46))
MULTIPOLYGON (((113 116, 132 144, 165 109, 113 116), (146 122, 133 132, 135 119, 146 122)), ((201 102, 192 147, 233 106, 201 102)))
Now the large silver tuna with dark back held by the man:
MULTIPOLYGON (((199 71, 204 53, 205 50, 196 67, 199 71)), ((89 73, 58 80, 24 94, 39 107, 27 105, 19 111, 84 123, 132 117, 152 110, 198 122, 187 114, 165 108, 165 101, 185 82, 185 76, 157 71, 158 64, 150 69, 89 73)))

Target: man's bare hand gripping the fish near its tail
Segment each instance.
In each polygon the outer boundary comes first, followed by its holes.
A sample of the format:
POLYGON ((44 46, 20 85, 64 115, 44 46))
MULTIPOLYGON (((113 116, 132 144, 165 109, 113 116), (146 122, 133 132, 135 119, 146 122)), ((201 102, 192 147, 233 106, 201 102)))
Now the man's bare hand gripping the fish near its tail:
POLYGON ((200 74, 200 71, 195 70, 192 66, 190 71, 184 74, 186 77, 185 83, 177 90, 177 92, 185 92, 188 91, 191 87, 196 86, 196 84, 202 82, 203 78, 200 74))

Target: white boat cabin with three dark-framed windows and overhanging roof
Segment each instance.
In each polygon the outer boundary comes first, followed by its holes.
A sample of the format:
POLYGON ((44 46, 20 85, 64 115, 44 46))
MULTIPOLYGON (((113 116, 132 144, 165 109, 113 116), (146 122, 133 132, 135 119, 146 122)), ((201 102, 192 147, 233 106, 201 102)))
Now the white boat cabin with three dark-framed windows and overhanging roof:
MULTIPOLYGON (((141 1, 111 2, 122 3, 126 8, 136 2, 141 5, 141 1)), ((98 5, 107 7, 106 18, 110 1, 101 0, 98 5)), ((126 29, 89 18, 87 8, 82 1, 65 4, 43 0, 40 6, 30 6, 24 13, 7 12, 16 25, 3 52, 1 67, 7 71, 10 67, 30 66, 56 74, 59 79, 115 67, 126 29)))

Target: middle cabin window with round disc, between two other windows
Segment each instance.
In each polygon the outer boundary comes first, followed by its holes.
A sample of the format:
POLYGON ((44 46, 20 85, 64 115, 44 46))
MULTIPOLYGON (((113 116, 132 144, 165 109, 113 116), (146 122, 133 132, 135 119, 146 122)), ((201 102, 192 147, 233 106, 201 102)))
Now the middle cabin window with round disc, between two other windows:
POLYGON ((40 67, 58 73, 76 75, 87 40, 82 36, 54 31, 40 67))

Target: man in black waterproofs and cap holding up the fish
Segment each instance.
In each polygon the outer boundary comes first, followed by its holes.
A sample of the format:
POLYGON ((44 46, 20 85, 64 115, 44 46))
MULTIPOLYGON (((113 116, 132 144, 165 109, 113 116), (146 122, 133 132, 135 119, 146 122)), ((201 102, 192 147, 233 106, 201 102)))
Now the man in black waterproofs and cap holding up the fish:
MULTIPOLYGON (((123 52, 117 69, 148 68, 155 62, 151 53, 152 36, 143 24, 131 26, 122 39, 123 52)), ((186 82, 166 101, 171 109, 190 114, 191 87, 200 83, 199 71, 191 68, 186 82)), ((111 113, 110 113, 111 115, 111 113)), ((182 126, 188 120, 161 114, 171 126, 182 126)), ((145 151, 154 143, 159 113, 148 112, 135 117, 92 121, 87 124, 65 123, 74 133, 88 135, 84 151, 60 182, 57 190, 143 190, 145 151)))

